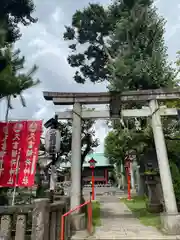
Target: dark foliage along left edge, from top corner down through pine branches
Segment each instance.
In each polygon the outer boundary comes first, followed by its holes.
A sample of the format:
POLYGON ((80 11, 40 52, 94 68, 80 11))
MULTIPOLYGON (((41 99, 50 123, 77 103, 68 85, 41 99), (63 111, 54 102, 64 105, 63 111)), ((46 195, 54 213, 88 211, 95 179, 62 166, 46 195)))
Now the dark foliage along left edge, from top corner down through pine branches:
POLYGON ((20 95, 22 105, 25 100, 22 92, 39 83, 33 80, 33 74, 37 66, 33 66, 28 72, 24 70, 25 58, 20 56, 20 50, 13 49, 13 43, 21 36, 19 23, 28 26, 35 23, 31 14, 35 7, 31 0, 25 1, 2 1, 0 10, 0 98, 7 97, 8 107, 11 107, 11 97, 20 95))

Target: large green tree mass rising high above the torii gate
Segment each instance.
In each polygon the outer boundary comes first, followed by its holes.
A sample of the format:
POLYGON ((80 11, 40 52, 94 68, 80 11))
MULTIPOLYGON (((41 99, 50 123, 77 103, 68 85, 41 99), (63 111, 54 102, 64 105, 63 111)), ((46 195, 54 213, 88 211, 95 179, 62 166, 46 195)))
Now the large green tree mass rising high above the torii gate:
POLYGON ((79 68, 75 81, 108 80, 119 92, 172 86, 163 34, 164 20, 152 1, 114 1, 107 9, 89 4, 76 11, 64 33, 71 41, 69 64, 79 68))

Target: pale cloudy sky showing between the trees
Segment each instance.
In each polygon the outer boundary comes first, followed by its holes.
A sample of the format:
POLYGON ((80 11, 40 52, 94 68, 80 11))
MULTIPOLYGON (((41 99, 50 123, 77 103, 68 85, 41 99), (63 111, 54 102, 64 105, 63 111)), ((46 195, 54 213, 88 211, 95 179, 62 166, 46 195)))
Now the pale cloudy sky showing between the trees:
MULTIPOLYGON (((91 3, 107 5, 110 0, 91 0, 91 3)), ((67 63, 69 54, 68 42, 63 40, 64 26, 71 23, 73 13, 88 5, 89 0, 35 0, 36 11, 34 16, 38 18, 36 24, 24 27, 20 26, 21 39, 15 44, 15 48, 21 50, 26 57, 26 67, 36 64, 39 69, 36 77, 41 83, 24 92, 27 107, 23 108, 19 99, 13 100, 13 110, 10 111, 9 119, 43 119, 44 121, 54 116, 60 110, 51 102, 43 99, 42 91, 65 91, 65 92, 102 92, 106 91, 105 84, 86 83, 77 84, 73 81, 74 69, 67 63)), ((179 0, 157 0, 155 5, 159 14, 166 23, 165 41, 168 47, 169 60, 175 61, 176 52, 180 50, 180 3, 179 0)), ((5 118, 5 102, 0 102, 0 119, 5 118)), ((95 125, 96 137, 100 140, 100 146, 96 152, 103 151, 104 137, 108 132, 106 124, 98 121, 95 125)))

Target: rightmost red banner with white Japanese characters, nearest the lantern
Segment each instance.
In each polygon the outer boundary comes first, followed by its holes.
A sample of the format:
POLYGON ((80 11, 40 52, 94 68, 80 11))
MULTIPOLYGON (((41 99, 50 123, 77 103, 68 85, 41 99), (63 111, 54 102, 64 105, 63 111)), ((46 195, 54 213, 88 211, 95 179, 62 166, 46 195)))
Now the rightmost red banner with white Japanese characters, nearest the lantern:
POLYGON ((18 186, 31 187, 34 185, 41 132, 42 121, 27 122, 26 139, 19 165, 18 186))

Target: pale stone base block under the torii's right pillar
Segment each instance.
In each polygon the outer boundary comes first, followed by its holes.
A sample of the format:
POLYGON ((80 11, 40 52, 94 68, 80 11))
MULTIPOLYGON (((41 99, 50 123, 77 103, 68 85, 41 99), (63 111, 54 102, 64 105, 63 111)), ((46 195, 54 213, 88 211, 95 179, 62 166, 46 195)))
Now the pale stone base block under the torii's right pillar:
POLYGON ((161 215, 162 231, 167 235, 179 235, 180 234, 180 215, 168 215, 162 213, 161 215))

